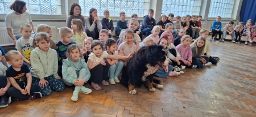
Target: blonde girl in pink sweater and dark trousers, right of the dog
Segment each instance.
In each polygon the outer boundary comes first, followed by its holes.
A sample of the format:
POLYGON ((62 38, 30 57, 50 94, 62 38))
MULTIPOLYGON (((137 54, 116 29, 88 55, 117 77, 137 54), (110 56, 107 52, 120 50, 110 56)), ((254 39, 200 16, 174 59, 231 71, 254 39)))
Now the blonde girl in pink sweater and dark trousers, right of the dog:
POLYGON ((177 51, 180 54, 180 60, 184 64, 181 64, 188 68, 196 68, 196 58, 192 57, 191 47, 189 46, 191 42, 191 37, 189 35, 185 35, 181 37, 181 44, 176 46, 177 51))

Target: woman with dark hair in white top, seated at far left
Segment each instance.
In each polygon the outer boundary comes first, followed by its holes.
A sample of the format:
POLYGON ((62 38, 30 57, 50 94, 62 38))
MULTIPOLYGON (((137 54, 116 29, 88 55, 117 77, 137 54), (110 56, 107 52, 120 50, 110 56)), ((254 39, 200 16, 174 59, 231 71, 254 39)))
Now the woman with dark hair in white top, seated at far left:
MULTIPOLYGON (((30 14, 26 12, 27 6, 26 2, 16 0, 10 6, 11 10, 14 12, 7 14, 5 17, 6 28, 9 36, 13 39, 14 44, 16 41, 22 37, 20 33, 20 25, 27 23, 30 24, 32 27, 32 31, 34 33, 34 26, 32 24, 32 20, 30 14)), ((31 37, 34 37, 34 34, 31 34, 31 37)))

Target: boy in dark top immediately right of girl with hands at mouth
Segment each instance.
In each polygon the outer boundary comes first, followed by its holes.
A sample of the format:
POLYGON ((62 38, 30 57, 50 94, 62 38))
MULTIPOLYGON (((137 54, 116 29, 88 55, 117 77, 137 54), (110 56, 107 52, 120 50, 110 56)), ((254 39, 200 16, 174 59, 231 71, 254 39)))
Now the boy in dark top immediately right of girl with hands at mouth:
POLYGON ((109 37, 112 37, 112 32, 114 30, 113 20, 109 18, 109 10, 104 10, 105 18, 102 18, 101 24, 102 29, 109 31, 109 37))

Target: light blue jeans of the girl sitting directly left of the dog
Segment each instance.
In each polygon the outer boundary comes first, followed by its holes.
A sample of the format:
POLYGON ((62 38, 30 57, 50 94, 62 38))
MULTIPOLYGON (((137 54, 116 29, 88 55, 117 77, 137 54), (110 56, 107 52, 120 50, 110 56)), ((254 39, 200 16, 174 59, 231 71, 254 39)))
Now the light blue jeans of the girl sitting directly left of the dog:
POLYGON ((119 60, 117 64, 113 64, 109 67, 109 79, 114 79, 117 77, 119 73, 122 71, 123 61, 119 60))

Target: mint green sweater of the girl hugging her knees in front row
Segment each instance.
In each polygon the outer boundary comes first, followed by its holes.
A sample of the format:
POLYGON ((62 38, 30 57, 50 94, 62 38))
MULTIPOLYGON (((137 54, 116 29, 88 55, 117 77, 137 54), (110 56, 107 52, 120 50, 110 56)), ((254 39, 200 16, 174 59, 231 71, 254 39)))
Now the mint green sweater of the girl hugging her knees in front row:
POLYGON ((84 62, 84 60, 82 60, 81 58, 79 58, 78 62, 73 62, 70 58, 67 58, 64 60, 63 64, 62 64, 62 74, 63 74, 63 79, 65 81, 67 81, 68 83, 72 83, 74 84, 74 82, 76 81, 76 79, 74 79, 73 77, 71 77, 70 75, 68 75, 68 67, 74 67, 75 71, 77 73, 79 73, 79 71, 84 68, 86 70, 86 75, 84 77, 84 79, 86 80, 86 82, 90 79, 90 71, 88 69, 87 64, 84 62))

